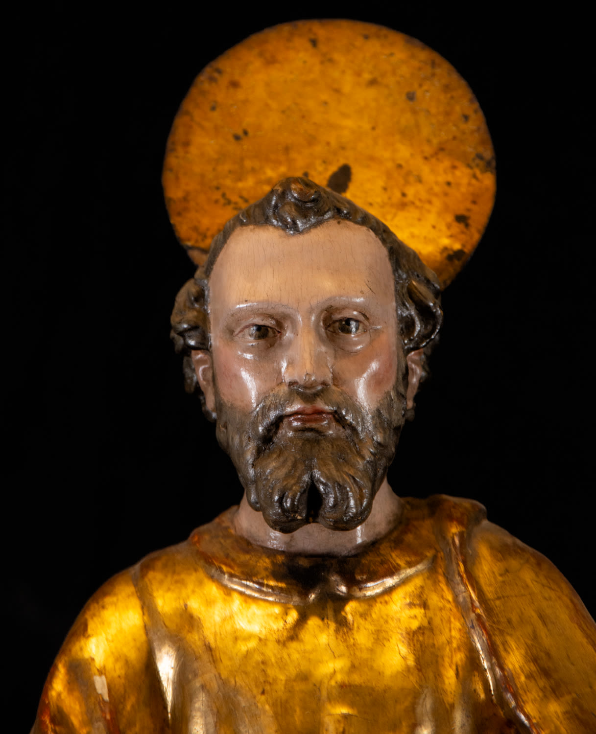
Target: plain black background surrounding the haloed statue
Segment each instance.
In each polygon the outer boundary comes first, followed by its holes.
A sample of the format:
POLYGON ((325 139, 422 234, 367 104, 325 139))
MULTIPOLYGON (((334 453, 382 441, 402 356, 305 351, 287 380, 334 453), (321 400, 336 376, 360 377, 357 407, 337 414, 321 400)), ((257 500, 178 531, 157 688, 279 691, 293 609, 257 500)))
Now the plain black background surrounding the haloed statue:
MULTIPOLYGON (((445 293, 434 377, 389 482, 483 502, 593 612, 593 90, 581 18, 367 8, 351 17, 423 40, 462 73, 498 164, 495 211, 445 293)), ((7 25, 5 693, 25 730, 98 586, 240 498, 168 339, 193 267, 168 223, 162 157, 207 62, 312 15, 331 13, 54 4, 7 25)))

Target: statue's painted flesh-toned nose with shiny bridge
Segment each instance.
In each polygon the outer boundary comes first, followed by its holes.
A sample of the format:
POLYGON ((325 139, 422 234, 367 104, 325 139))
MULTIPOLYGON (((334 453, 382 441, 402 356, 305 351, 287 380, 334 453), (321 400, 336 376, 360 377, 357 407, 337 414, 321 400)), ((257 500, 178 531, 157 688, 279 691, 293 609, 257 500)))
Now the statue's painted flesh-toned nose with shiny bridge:
POLYGON ((298 327, 286 352, 282 376, 295 388, 316 390, 331 385, 331 355, 315 327, 298 327))

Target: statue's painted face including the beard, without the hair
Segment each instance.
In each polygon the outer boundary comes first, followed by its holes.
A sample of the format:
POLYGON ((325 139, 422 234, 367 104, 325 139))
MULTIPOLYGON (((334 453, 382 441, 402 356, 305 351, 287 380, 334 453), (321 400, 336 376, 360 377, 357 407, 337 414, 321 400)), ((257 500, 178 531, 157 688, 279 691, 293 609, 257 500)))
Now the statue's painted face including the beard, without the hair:
POLYGON ((195 360, 218 440, 274 530, 370 514, 406 413, 387 251, 351 222, 234 231, 209 280, 195 360))

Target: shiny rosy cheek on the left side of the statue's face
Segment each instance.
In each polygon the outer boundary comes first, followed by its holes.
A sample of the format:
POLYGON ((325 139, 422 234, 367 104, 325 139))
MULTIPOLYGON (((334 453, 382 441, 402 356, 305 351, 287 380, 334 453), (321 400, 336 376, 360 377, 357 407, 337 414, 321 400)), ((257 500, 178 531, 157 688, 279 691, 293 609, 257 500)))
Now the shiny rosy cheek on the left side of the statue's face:
POLYGON ((213 373, 220 398, 241 410, 254 410, 279 382, 275 366, 245 357, 229 344, 213 344, 213 373))

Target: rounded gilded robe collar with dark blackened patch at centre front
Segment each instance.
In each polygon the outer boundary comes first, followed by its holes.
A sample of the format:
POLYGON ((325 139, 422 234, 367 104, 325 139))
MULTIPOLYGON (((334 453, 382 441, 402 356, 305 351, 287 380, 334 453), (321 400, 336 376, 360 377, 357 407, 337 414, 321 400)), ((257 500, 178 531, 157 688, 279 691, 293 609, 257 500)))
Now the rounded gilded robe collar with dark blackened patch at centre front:
POLYGON ((375 597, 428 570, 446 537, 484 516, 481 505, 466 503, 455 505, 466 510, 465 517, 457 517, 453 501, 445 500, 442 495, 402 500, 395 528, 349 556, 303 556, 253 545, 234 532, 235 507, 195 530, 190 543, 215 581, 252 597, 293 605, 375 597))

